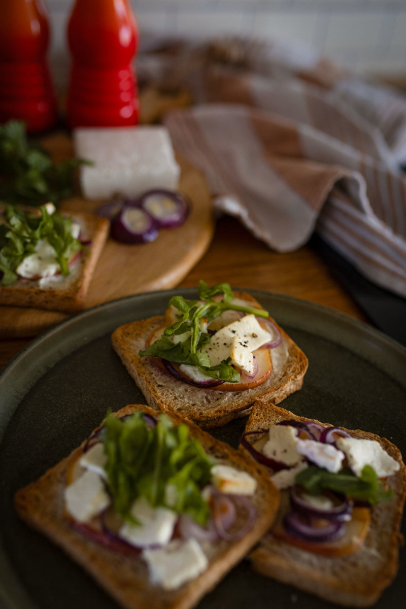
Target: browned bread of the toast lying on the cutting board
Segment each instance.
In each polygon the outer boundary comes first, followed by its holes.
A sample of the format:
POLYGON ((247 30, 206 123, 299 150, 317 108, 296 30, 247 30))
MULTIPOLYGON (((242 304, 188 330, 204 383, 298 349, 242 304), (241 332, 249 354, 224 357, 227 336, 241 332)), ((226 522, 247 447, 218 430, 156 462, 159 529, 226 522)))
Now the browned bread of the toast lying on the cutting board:
POLYGON ((22 278, 10 286, 0 286, 0 305, 66 313, 84 308, 89 283, 107 240, 110 223, 105 218, 86 213, 74 213, 72 217, 80 224, 83 239, 90 243, 88 251, 84 250, 80 258, 69 267, 69 275, 50 278, 46 287, 40 287, 38 280, 22 278))

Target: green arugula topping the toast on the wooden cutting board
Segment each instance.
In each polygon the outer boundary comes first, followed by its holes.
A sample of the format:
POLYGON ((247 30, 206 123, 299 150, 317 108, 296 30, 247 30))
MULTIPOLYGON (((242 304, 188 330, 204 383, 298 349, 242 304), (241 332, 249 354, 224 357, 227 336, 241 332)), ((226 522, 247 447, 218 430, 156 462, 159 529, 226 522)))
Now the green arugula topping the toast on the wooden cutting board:
POLYGON ((72 236, 72 219, 55 212, 49 215, 41 206, 40 215, 12 205, 5 207, 5 222, 0 224, 0 284, 9 286, 17 279, 16 269, 32 254, 40 239, 47 239, 55 250, 62 275, 69 275, 68 258, 83 245, 72 236))

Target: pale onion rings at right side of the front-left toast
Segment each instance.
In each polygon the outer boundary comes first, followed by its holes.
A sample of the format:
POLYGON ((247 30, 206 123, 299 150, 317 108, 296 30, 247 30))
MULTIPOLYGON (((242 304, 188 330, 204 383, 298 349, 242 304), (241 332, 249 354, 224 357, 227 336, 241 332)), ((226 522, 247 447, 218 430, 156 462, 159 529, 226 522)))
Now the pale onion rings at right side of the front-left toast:
POLYGON ((225 541, 237 541, 241 539, 254 525, 256 518, 256 509, 253 502, 246 495, 224 495, 218 493, 212 496, 212 513, 214 524, 219 536, 225 541), (234 519, 233 523, 226 523, 222 512, 231 509, 230 504, 234 504, 234 519), (246 512, 247 518, 243 525, 238 529, 231 531, 237 512, 246 512))

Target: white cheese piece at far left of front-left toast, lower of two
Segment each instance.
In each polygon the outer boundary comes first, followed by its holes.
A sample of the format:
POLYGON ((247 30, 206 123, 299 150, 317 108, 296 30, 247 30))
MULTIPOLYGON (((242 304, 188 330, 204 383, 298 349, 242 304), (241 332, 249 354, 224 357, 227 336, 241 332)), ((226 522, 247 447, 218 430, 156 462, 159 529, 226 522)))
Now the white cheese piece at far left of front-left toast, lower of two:
POLYGON ((108 505, 110 497, 99 474, 85 471, 65 488, 66 510, 79 523, 88 523, 108 505))

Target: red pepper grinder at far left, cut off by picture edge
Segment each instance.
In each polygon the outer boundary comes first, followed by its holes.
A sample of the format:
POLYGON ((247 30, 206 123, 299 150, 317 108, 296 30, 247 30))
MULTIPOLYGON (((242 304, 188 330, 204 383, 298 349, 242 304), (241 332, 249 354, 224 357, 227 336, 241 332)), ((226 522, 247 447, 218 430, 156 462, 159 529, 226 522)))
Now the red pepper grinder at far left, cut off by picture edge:
POLYGON ((46 63, 49 27, 41 0, 0 1, 0 122, 49 129, 57 107, 46 63))

